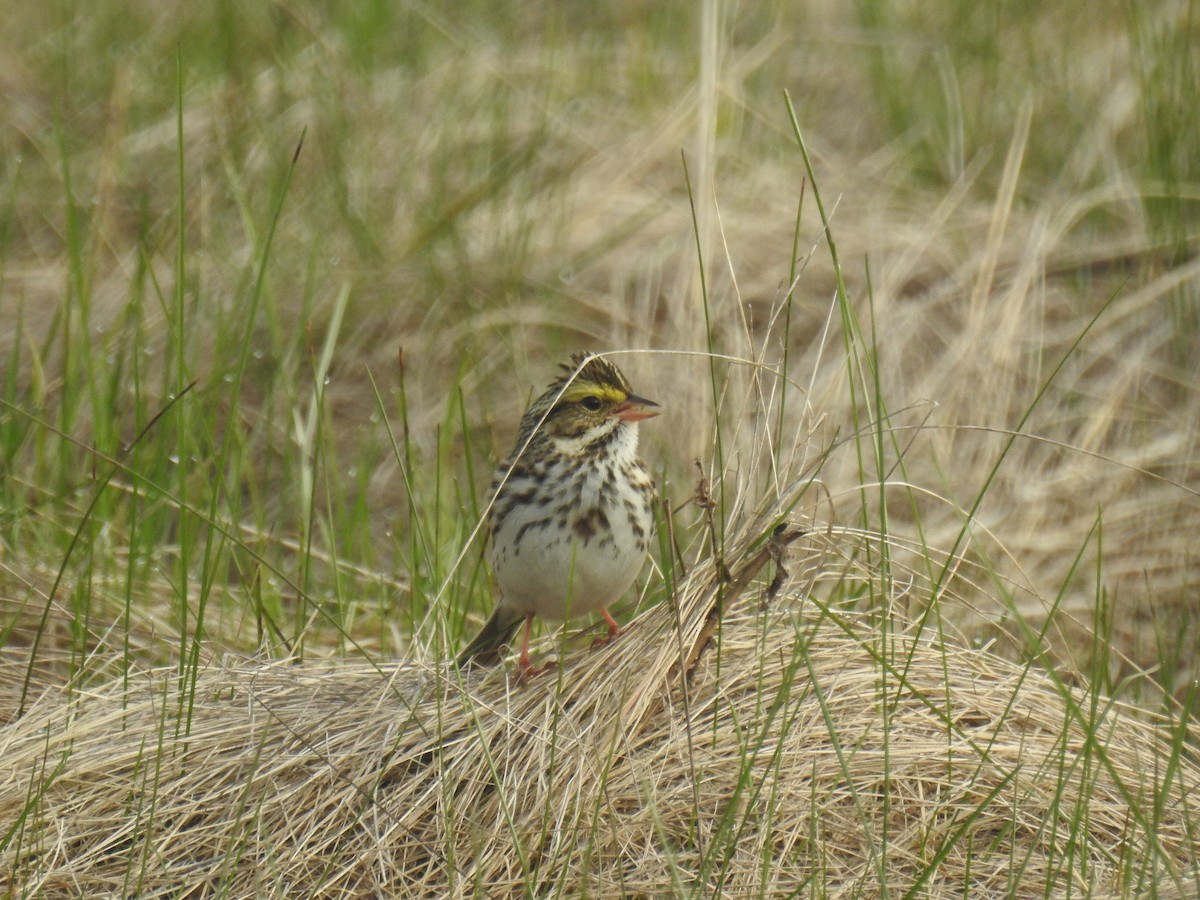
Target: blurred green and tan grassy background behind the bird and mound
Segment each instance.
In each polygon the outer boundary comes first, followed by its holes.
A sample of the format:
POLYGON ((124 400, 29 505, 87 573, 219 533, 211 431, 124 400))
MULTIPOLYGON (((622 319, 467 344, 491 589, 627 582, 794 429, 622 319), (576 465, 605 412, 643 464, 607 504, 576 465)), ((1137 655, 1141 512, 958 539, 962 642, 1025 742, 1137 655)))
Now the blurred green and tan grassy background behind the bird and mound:
POLYGON ((1195 702, 1195 2, 5 7, 10 653, 442 654, 641 350, 672 505, 817 479, 888 608, 1195 702))

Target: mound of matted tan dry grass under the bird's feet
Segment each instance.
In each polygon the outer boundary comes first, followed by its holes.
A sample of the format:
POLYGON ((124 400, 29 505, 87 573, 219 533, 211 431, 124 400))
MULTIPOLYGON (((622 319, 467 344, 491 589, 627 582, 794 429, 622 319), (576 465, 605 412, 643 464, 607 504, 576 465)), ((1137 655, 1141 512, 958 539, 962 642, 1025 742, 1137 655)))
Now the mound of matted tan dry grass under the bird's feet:
POLYGON ((744 540, 732 583, 701 565, 528 684, 226 659, 48 686, 0 731, 6 888, 1194 895, 1200 769, 1160 726, 824 607, 826 536, 770 602, 744 540))

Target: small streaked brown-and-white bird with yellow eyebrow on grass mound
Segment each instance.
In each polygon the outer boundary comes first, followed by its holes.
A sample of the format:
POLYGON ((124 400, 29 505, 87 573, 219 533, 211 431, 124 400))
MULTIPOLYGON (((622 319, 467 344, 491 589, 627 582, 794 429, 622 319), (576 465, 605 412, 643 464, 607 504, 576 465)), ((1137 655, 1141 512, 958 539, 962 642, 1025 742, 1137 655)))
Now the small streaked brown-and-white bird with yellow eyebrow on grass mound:
POLYGON ((637 424, 659 404, 634 394, 612 362, 576 353, 521 419, 516 444, 497 467, 486 515, 498 589, 491 617, 460 653, 458 667, 496 665, 524 624, 517 672, 529 659, 534 617, 564 622, 608 612, 646 560, 655 486, 637 455, 637 424))

